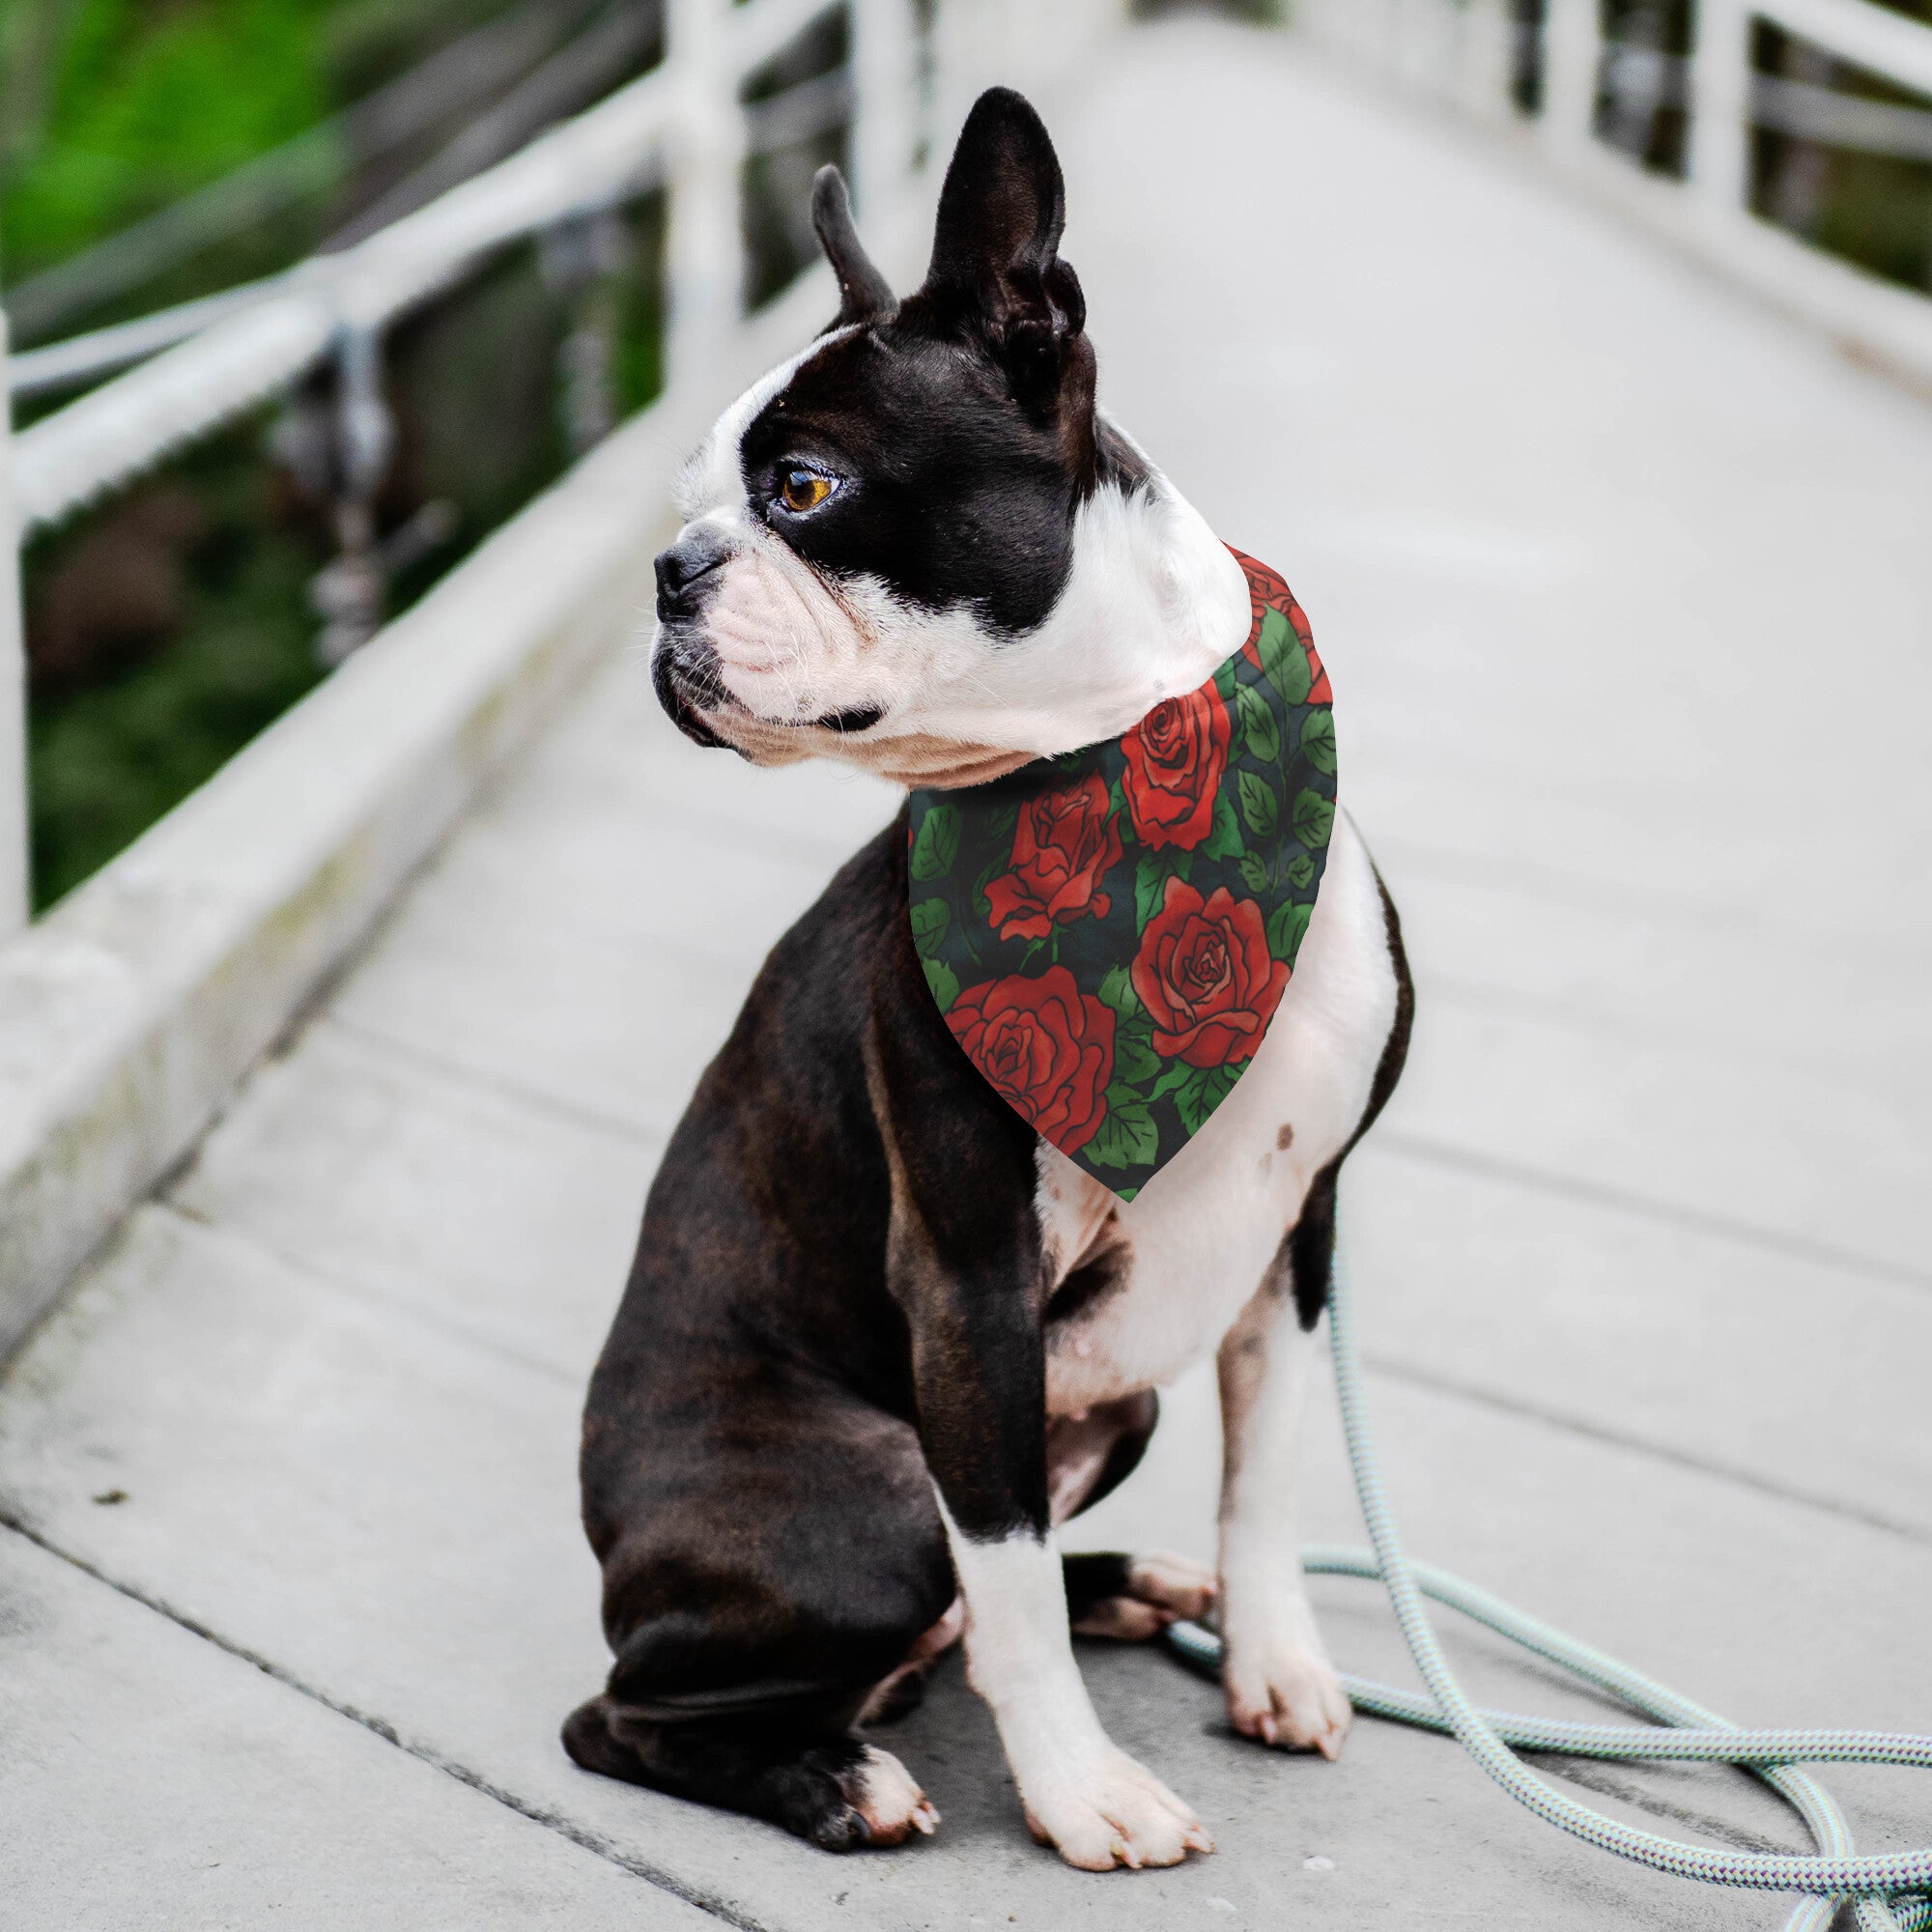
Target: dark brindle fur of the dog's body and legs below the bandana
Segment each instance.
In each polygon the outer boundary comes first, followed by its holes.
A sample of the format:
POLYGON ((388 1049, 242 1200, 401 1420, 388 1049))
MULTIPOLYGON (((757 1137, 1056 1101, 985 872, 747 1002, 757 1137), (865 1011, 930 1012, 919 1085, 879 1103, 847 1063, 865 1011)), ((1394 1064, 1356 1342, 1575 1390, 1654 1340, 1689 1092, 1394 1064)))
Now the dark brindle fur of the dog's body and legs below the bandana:
MULTIPOLYGON (((651 1186, 583 1420, 616 1663, 578 1764, 862 1841, 844 1733, 956 1588, 933 1478, 970 1532, 1047 1524, 1034 1146, 925 987, 900 815, 779 941, 651 1186)), ((1122 1408, 1090 1503, 1153 1434, 1122 1408)), ((1121 1563, 1072 1559, 1076 1605, 1121 1563)))

